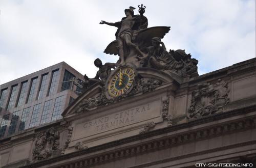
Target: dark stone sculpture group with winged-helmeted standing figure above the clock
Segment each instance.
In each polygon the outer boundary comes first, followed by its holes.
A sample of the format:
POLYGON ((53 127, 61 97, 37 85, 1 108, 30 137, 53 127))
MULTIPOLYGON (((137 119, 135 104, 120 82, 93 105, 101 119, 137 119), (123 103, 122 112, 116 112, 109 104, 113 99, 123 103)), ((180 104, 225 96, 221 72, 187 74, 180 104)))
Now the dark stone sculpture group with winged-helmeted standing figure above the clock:
POLYGON ((125 9, 125 17, 118 22, 100 21, 117 27, 116 39, 104 50, 107 54, 119 55, 117 63, 105 63, 100 59, 94 64, 99 68, 94 78, 84 75, 83 90, 87 90, 96 82, 102 86, 115 67, 134 65, 136 68, 152 68, 165 72, 175 73, 183 78, 198 76, 198 61, 186 54, 185 50, 167 51, 161 39, 169 32, 169 26, 147 27, 147 18, 144 16, 145 6, 139 7, 139 15, 134 14, 134 7, 125 9))

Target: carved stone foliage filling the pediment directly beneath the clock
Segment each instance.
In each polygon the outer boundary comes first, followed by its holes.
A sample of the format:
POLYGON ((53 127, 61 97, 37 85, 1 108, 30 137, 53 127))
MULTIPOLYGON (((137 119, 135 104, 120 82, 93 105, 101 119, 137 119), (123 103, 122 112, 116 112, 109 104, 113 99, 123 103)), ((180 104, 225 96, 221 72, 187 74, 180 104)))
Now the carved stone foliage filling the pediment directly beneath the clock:
POLYGON ((141 79, 136 79, 135 83, 134 83, 134 87, 131 90, 131 92, 127 93, 127 94, 122 94, 117 98, 112 98, 112 99, 108 99, 105 96, 105 93, 102 92, 97 96, 97 97, 93 97, 93 98, 89 98, 87 100, 83 100, 78 107, 76 108, 76 113, 82 113, 83 111, 89 111, 94 107, 97 106, 105 106, 105 105, 109 105, 115 102, 119 102, 121 100, 123 100, 126 97, 132 96, 134 94, 137 93, 146 93, 146 92, 152 92, 154 91, 157 87, 161 86, 162 82, 156 79, 145 79, 145 78, 141 78, 141 79))

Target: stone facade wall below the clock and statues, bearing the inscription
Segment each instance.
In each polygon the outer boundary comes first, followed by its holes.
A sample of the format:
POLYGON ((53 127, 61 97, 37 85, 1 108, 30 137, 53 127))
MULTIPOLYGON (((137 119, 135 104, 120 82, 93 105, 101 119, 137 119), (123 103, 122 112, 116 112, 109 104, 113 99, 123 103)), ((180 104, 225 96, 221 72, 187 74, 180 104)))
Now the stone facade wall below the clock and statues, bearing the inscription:
POLYGON ((253 163, 256 59, 77 113, 3 139, 2 167, 191 167, 253 163), (132 113, 133 112, 133 113, 132 113))

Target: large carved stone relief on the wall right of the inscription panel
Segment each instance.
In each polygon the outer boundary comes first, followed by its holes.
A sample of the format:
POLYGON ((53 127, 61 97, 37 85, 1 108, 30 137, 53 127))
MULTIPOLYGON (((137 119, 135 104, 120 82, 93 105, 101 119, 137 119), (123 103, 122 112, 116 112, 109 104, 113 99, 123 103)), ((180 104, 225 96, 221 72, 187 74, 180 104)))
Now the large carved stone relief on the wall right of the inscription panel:
POLYGON ((210 83, 200 84, 192 92, 191 104, 188 108, 190 118, 200 118, 223 110, 229 103, 228 83, 218 79, 215 85, 210 83))

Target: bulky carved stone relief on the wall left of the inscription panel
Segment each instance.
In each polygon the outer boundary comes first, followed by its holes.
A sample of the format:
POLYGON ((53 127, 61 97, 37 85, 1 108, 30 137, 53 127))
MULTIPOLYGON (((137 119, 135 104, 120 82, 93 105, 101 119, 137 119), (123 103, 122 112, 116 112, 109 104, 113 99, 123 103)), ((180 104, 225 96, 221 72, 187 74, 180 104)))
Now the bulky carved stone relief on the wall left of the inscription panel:
POLYGON ((44 160, 52 155, 53 151, 59 148, 59 135, 54 127, 47 131, 39 132, 36 135, 35 145, 33 148, 33 160, 44 160))

